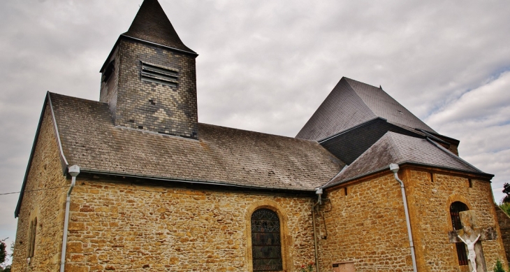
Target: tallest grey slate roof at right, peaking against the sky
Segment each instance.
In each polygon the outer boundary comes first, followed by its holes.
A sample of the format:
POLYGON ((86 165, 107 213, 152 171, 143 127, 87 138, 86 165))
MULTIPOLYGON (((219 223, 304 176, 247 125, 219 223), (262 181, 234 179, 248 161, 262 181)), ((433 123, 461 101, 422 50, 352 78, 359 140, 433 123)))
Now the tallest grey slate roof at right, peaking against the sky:
POLYGON ((436 133, 384 90, 342 78, 296 138, 320 141, 374 118, 436 133))

